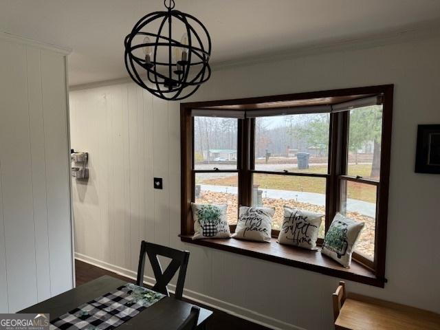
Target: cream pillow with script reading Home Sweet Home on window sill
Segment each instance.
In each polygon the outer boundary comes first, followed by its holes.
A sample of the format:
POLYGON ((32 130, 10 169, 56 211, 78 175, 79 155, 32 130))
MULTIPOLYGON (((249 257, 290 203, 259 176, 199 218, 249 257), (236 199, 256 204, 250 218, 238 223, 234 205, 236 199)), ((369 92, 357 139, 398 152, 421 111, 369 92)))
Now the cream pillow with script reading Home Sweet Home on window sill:
POLYGON ((296 210, 285 206, 278 243, 295 245, 308 250, 318 250, 316 241, 322 217, 324 217, 322 213, 296 210))

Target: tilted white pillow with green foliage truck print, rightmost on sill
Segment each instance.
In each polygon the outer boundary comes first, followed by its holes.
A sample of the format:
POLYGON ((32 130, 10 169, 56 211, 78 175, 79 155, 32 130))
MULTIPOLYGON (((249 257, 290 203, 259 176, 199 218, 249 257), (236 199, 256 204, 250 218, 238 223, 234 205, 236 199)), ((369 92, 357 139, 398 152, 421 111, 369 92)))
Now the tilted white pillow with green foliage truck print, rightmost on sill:
POLYGON ((336 213, 327 234, 325 234, 321 253, 349 268, 351 254, 355 250, 355 244, 362 228, 364 228, 363 222, 354 221, 336 213))

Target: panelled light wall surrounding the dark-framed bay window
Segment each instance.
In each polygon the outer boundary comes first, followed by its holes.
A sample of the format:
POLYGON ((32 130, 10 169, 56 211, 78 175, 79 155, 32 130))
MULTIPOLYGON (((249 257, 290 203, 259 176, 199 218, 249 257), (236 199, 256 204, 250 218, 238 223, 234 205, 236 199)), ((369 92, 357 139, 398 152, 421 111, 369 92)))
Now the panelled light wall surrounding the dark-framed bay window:
MULTIPOLYGON (((440 176, 413 169, 417 124, 440 122, 438 58, 440 38, 432 38, 225 67, 191 101, 395 84, 388 283, 347 286, 440 313, 440 176)), ((74 183, 80 258, 134 275, 143 236, 190 250, 192 299, 281 329, 333 329, 338 278, 179 241, 179 104, 134 84, 72 91, 70 100, 72 146, 91 153, 89 183, 74 183), (152 189, 154 176, 164 190, 152 189)))

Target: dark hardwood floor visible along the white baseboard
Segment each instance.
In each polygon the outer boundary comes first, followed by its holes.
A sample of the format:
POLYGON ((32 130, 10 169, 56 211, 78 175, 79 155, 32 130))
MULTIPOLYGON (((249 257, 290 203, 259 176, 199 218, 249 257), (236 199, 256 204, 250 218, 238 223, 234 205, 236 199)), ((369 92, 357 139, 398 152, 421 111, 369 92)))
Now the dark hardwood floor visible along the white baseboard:
MULTIPOLYGON (((76 269, 76 285, 82 285, 89 281, 94 280, 103 275, 110 275, 116 278, 120 278, 124 281, 135 283, 131 278, 126 278, 124 276, 120 276, 113 272, 109 272, 108 270, 103 270, 100 267, 96 267, 94 265, 89 265, 88 263, 83 263, 83 261, 75 261, 75 269, 76 269)), ((188 299, 184 299, 189 303, 192 303, 188 299)), ((201 307, 205 307, 199 303, 197 305, 201 307)), ((213 309, 212 307, 206 306, 206 308, 214 311, 214 315, 210 318, 207 325, 207 330, 269 330, 269 328, 263 327, 261 325, 256 325, 255 323, 249 322, 247 320, 243 320, 242 318, 237 318, 236 316, 232 316, 223 311, 218 311, 213 309)))

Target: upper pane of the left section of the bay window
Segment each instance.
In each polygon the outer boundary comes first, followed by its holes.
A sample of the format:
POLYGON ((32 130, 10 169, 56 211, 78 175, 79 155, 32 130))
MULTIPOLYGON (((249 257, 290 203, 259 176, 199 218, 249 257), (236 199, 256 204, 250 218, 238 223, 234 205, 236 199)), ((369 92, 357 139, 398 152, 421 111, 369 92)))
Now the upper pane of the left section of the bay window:
POLYGON ((235 169, 236 118, 194 118, 194 168, 196 170, 235 169))

